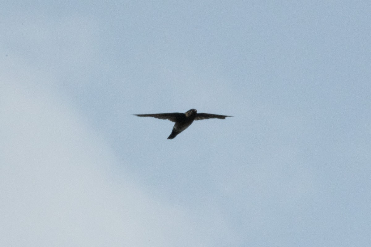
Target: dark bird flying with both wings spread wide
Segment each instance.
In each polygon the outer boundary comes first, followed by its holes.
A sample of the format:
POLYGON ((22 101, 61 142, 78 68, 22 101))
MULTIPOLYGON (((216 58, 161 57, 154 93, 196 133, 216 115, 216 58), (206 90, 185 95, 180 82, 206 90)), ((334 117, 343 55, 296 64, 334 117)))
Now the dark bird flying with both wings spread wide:
POLYGON ((217 114, 210 114, 210 113, 197 113, 196 109, 191 109, 186 111, 185 113, 155 113, 155 114, 134 114, 138 117, 154 117, 156 119, 168 119, 172 122, 175 122, 173 131, 171 131, 170 136, 168 139, 173 139, 177 134, 188 128, 191 125, 193 120, 202 120, 202 119, 225 119, 226 117, 232 116, 224 116, 224 115, 217 115, 217 114))

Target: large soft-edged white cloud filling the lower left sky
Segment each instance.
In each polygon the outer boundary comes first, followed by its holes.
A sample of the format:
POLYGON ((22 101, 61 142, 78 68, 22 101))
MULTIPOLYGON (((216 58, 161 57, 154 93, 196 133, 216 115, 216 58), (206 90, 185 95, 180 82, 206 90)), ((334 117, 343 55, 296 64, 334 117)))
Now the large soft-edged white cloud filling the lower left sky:
POLYGON ((22 80, 3 83, 0 94, 1 246, 214 241, 220 220, 210 231, 180 206, 149 195, 66 99, 22 80))

